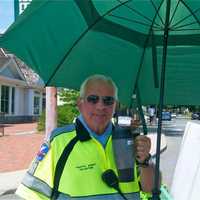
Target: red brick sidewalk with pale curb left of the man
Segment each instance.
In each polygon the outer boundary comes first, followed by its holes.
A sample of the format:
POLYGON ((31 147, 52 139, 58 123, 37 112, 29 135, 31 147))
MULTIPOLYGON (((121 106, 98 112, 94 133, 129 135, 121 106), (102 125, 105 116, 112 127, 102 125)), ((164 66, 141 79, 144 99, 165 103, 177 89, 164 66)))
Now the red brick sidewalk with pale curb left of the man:
POLYGON ((0 195, 16 189, 43 138, 37 123, 6 124, 0 137, 0 195))

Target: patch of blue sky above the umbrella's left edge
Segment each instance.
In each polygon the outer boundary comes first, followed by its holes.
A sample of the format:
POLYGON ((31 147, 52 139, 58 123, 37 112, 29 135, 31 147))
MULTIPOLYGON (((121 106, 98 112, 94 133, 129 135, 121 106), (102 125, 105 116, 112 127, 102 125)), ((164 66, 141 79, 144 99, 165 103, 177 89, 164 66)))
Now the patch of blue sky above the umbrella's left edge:
POLYGON ((0 0, 0 33, 14 21, 14 0, 0 0))

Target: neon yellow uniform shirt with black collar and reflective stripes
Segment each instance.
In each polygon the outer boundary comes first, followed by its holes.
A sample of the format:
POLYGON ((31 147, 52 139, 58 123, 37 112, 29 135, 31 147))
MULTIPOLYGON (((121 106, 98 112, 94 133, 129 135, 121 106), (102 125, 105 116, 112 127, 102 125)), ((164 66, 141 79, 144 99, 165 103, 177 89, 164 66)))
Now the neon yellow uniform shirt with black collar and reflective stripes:
MULTIPOLYGON (((33 161, 16 193, 28 200, 52 199, 57 176, 55 173, 62 165, 56 199, 123 199, 101 178, 107 169, 112 169, 117 174, 112 136, 104 149, 97 140, 90 137, 79 121, 76 125, 53 131, 48 153, 42 161, 33 161), (59 161, 61 157, 67 157, 66 163, 59 161)), ((140 187, 136 166, 134 174, 134 181, 120 182, 119 187, 128 199, 138 200, 140 187)))

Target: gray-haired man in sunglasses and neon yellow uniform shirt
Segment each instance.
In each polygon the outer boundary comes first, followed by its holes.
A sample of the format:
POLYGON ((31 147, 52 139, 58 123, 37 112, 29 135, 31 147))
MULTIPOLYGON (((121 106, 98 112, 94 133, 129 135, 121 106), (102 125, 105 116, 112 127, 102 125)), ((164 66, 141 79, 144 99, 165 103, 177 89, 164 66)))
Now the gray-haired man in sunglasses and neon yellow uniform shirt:
POLYGON ((135 166, 135 179, 120 182, 119 191, 102 179, 109 170, 117 174, 111 123, 117 99, 117 87, 109 77, 93 75, 86 79, 80 88, 77 106, 81 114, 75 125, 53 131, 49 144, 42 145, 17 194, 28 200, 120 200, 140 199, 140 187, 150 192, 153 167, 146 160, 151 143, 145 136, 135 139, 140 175, 135 166))

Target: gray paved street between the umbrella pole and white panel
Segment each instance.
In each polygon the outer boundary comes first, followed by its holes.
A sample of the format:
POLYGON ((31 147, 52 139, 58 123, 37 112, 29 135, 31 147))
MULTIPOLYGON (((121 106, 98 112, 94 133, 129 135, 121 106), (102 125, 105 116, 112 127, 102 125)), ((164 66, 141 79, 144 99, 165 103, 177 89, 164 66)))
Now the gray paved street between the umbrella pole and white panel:
MULTIPOLYGON (((163 183, 170 189, 176 161, 178 158, 179 148, 182 141, 186 119, 173 119, 172 121, 164 121, 163 129, 167 140, 167 149, 161 153, 160 169, 162 171, 163 183)), ((200 123, 200 121, 193 120, 200 123)), ((0 196, 0 200, 21 200, 14 194, 0 196)))

